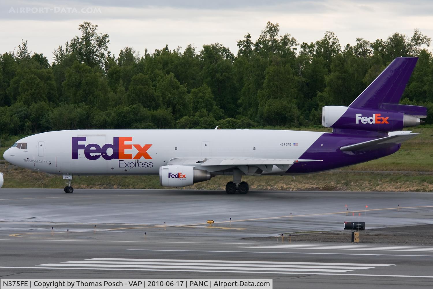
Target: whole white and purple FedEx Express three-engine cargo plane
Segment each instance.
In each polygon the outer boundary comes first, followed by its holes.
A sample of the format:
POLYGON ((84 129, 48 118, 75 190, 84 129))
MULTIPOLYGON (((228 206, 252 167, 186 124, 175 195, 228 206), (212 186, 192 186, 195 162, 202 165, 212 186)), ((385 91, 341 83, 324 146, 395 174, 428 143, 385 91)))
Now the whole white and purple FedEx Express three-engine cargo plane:
POLYGON ((248 192, 243 175, 323 172, 391 155, 417 133, 427 108, 398 104, 417 58, 396 58, 348 107, 323 107, 332 133, 292 130, 62 130, 17 141, 4 158, 63 175, 159 175, 185 187, 233 175, 227 194, 248 192))

